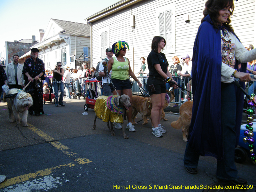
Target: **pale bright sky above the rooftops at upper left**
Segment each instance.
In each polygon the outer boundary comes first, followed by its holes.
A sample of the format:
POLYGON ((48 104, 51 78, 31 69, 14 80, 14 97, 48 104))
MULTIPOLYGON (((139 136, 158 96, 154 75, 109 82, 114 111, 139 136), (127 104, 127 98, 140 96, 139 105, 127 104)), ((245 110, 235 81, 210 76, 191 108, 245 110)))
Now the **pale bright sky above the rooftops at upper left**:
MULTIPOLYGON (((5 41, 39 39, 50 19, 85 23, 85 18, 119 0, 0 0, 0 55, 5 41)), ((3 53, 4 54, 4 53, 3 53)))

